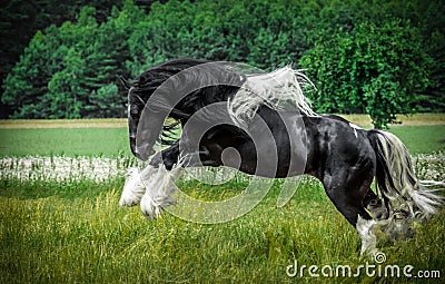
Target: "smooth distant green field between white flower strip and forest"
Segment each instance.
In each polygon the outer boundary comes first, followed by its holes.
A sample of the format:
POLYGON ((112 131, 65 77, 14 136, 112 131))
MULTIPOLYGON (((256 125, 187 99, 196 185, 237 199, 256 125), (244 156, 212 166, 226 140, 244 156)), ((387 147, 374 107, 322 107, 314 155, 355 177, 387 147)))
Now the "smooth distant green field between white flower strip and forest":
MULTIPOLYGON (((364 115, 343 115, 369 128, 364 115)), ((393 125, 413 153, 445 150, 445 114, 400 117, 403 126, 393 125)), ((125 119, 0 120, 0 157, 28 155, 130 157, 125 119)))

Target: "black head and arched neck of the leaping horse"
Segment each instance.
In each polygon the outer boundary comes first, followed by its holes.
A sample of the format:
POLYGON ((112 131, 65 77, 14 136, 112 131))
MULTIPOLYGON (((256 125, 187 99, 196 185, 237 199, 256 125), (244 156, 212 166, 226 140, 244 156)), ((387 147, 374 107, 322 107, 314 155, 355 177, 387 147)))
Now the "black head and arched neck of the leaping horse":
POLYGON ((148 159, 166 134, 167 117, 185 124, 197 110, 227 100, 246 77, 228 63, 178 59, 142 72, 128 89, 128 125, 132 154, 148 159))

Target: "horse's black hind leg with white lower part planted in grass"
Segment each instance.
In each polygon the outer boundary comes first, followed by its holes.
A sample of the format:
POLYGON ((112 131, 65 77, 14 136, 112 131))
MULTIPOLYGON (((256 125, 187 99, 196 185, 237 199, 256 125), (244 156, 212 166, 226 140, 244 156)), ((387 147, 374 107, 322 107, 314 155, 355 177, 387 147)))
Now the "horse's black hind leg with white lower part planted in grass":
POLYGON ((323 184, 329 199, 343 216, 357 229, 362 238, 360 255, 376 252, 376 221, 366 212, 363 200, 370 190, 374 178, 373 170, 367 174, 360 169, 349 169, 349 173, 336 173, 335 176, 325 176, 323 184))

